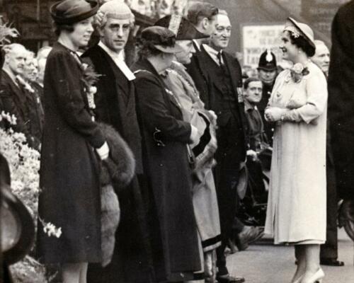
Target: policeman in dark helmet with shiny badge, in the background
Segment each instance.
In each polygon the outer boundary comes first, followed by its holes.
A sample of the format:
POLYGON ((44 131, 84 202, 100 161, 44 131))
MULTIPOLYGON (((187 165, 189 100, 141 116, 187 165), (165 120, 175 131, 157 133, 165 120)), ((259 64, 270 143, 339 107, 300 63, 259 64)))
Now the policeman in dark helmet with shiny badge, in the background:
POLYGON ((273 127, 265 121, 264 110, 267 107, 270 94, 273 91, 275 79, 278 75, 277 59, 275 58, 275 54, 270 50, 265 50, 265 52, 261 54, 261 57, 259 57, 257 70, 258 77, 261 79, 263 84, 262 99, 261 102, 258 103, 258 110, 261 112, 264 131, 267 135, 268 142, 272 144, 273 127))

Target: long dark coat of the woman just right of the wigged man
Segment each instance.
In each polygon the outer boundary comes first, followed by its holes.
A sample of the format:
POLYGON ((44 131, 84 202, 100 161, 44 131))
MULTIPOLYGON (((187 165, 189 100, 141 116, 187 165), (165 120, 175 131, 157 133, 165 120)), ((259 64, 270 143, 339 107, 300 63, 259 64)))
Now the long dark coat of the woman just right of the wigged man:
POLYGON ((187 152, 191 127, 149 61, 139 60, 132 69, 144 173, 152 194, 147 209, 156 281, 192 279, 192 272, 200 270, 200 258, 187 152))

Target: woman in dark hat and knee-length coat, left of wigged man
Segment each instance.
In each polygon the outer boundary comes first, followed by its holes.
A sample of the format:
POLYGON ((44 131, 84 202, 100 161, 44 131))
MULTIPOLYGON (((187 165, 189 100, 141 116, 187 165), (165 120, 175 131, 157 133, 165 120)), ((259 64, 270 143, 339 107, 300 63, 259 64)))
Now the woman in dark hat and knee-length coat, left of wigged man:
POLYGON ((92 90, 76 54, 89 42, 97 10, 89 0, 50 8, 58 40, 45 69, 37 247, 42 262, 62 264, 64 283, 86 282, 88 262, 101 262, 98 166, 109 148, 91 115, 92 90))

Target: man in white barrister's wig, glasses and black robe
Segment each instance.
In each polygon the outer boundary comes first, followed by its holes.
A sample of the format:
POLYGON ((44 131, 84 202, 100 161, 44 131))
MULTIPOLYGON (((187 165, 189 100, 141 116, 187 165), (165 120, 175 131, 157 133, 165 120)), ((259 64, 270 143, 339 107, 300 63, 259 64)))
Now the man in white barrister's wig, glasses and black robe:
POLYGON ((102 76, 97 83, 96 119, 113 126, 127 141, 136 160, 136 178, 118 191, 120 224, 110 264, 90 265, 89 282, 149 282, 147 238, 142 209, 141 136, 135 112, 135 75, 125 64, 124 47, 134 15, 122 0, 103 4, 95 18, 101 41, 82 57, 102 76))

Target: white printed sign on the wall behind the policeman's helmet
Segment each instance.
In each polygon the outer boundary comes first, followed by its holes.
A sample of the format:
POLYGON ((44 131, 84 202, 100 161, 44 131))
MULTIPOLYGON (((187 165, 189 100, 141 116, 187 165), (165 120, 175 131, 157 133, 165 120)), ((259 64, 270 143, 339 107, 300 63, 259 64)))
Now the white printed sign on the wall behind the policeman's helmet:
POLYGON ((244 25, 242 26, 242 52, 244 66, 258 67, 261 54, 271 50, 280 62, 282 55, 280 51, 280 36, 284 24, 279 25, 244 25))

